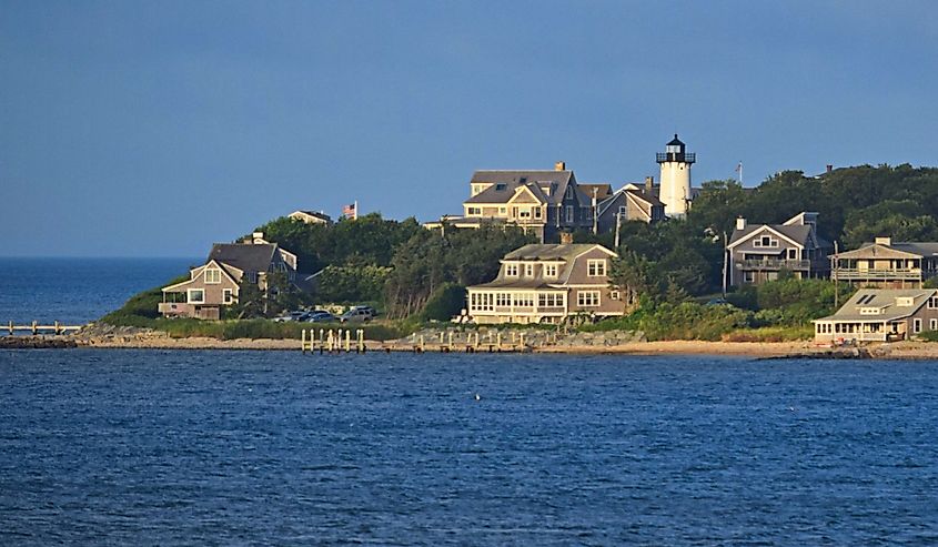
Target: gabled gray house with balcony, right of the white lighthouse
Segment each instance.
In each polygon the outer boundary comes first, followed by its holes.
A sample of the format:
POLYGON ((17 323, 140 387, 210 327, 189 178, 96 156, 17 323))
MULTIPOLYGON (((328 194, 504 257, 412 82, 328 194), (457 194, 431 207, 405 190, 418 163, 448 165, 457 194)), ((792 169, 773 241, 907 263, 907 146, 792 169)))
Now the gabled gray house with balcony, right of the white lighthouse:
POLYGON ((783 224, 736 220, 729 237, 729 283, 758 284, 783 271, 798 278, 827 277, 830 243, 817 234, 817 213, 799 213, 783 224))

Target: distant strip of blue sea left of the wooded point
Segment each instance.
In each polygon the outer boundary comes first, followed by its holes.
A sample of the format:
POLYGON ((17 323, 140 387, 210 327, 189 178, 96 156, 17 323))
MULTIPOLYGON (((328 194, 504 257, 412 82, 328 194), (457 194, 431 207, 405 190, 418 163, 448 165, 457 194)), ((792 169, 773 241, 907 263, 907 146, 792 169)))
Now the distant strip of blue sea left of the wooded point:
POLYGON ((0 257, 0 324, 84 324, 189 272, 198 259, 0 257))

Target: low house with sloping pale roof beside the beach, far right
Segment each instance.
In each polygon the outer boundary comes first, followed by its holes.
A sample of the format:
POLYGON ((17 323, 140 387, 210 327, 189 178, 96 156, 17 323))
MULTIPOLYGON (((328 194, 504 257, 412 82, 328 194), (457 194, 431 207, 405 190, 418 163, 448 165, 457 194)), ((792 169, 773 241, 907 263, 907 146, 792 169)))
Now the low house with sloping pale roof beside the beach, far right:
POLYGON ((861 288, 837 313, 814 324, 817 342, 907 340, 938 331, 938 290, 861 288))

